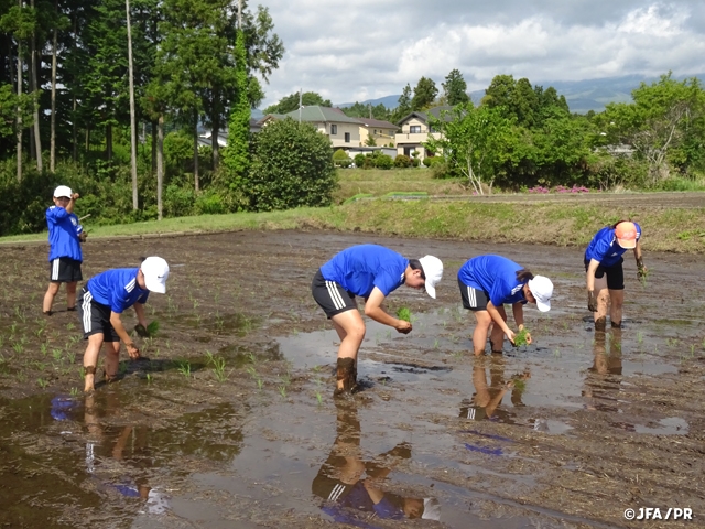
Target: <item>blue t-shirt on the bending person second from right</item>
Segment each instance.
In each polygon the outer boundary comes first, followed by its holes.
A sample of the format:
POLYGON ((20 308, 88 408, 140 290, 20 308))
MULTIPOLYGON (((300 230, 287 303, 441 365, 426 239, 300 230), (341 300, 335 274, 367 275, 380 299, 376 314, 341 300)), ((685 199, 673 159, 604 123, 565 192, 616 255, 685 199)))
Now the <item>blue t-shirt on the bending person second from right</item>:
POLYGON ((527 303, 517 271, 523 267, 501 256, 479 256, 470 259, 458 270, 463 284, 487 292, 492 305, 527 303))

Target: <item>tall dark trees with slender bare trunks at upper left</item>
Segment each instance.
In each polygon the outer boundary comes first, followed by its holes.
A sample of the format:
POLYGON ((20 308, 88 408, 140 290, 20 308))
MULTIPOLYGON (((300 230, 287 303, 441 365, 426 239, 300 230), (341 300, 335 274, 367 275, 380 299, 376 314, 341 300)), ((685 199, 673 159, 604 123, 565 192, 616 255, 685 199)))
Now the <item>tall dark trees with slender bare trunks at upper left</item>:
MULTIPOLYGON (((198 127, 223 130, 235 109, 249 121, 284 52, 268 10, 243 0, 2 0, 0 34, 0 156, 15 160, 18 182, 75 172, 59 168, 69 162, 118 181, 126 158, 154 180, 164 176, 164 134, 178 130, 192 139, 197 192, 198 127), (131 129, 149 142, 132 155, 131 129)), ((220 160, 213 134, 208 168, 220 160)), ((237 174, 238 163, 228 166, 237 174)), ((134 175, 133 208, 144 209, 134 175)))

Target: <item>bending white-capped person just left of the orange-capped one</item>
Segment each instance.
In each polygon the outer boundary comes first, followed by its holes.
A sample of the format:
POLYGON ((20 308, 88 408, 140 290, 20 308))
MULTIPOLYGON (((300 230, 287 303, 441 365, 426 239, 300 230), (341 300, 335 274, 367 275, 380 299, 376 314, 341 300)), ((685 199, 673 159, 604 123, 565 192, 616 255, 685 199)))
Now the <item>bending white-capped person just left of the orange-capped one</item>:
MULTIPOLYGON (((535 276, 520 264, 501 256, 478 256, 458 270, 458 285, 463 306, 475 314, 473 332, 475 355, 485 353, 490 333, 492 353, 501 353, 505 335, 514 343, 514 332, 507 325, 505 304, 511 304, 519 331, 524 328, 523 305, 535 303, 541 312, 551 310, 553 283, 549 278, 535 276)), ((527 335, 531 343, 531 335, 527 335)))

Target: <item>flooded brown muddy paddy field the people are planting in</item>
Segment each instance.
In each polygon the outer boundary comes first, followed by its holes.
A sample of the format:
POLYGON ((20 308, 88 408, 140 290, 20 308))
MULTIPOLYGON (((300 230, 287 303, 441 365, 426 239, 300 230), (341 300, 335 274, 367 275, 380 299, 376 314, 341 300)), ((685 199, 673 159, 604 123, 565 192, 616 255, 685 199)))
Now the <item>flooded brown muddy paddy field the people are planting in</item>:
MULTIPOLYGON (((628 507, 705 515, 695 259, 647 253, 647 289, 627 262, 625 328, 596 334, 576 250, 319 233, 116 245, 178 266, 169 296, 150 300, 161 332, 142 343, 149 360, 123 363, 94 396, 70 391, 83 353, 73 316, 37 335, 36 300, 0 301, 9 527, 627 527, 628 507), (437 255, 446 277, 435 302, 403 288, 389 298, 392 312, 411 307, 414 331, 368 322, 364 390, 334 401, 337 335, 308 282, 370 239, 437 255), (525 311, 534 345, 476 359, 454 277, 489 251, 550 276, 556 295, 549 315, 525 311)), ((33 251, 11 251, 19 284, 43 284, 33 251)), ((91 251, 86 276, 116 266, 91 251)))

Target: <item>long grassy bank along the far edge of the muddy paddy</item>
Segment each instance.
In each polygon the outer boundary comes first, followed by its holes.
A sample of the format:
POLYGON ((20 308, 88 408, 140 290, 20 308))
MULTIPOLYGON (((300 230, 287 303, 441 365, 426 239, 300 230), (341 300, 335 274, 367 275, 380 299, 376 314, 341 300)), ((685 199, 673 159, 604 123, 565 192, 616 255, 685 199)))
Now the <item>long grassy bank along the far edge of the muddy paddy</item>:
MULTIPOLYGON (((403 237, 584 246, 597 229, 622 218, 631 218, 642 226, 647 250, 705 252, 705 207, 634 210, 629 205, 564 202, 476 204, 373 199, 327 208, 203 215, 161 223, 100 226, 89 230, 89 239, 189 231, 315 228, 403 237)), ((0 244, 32 240, 46 240, 46 234, 3 237, 0 244)))

